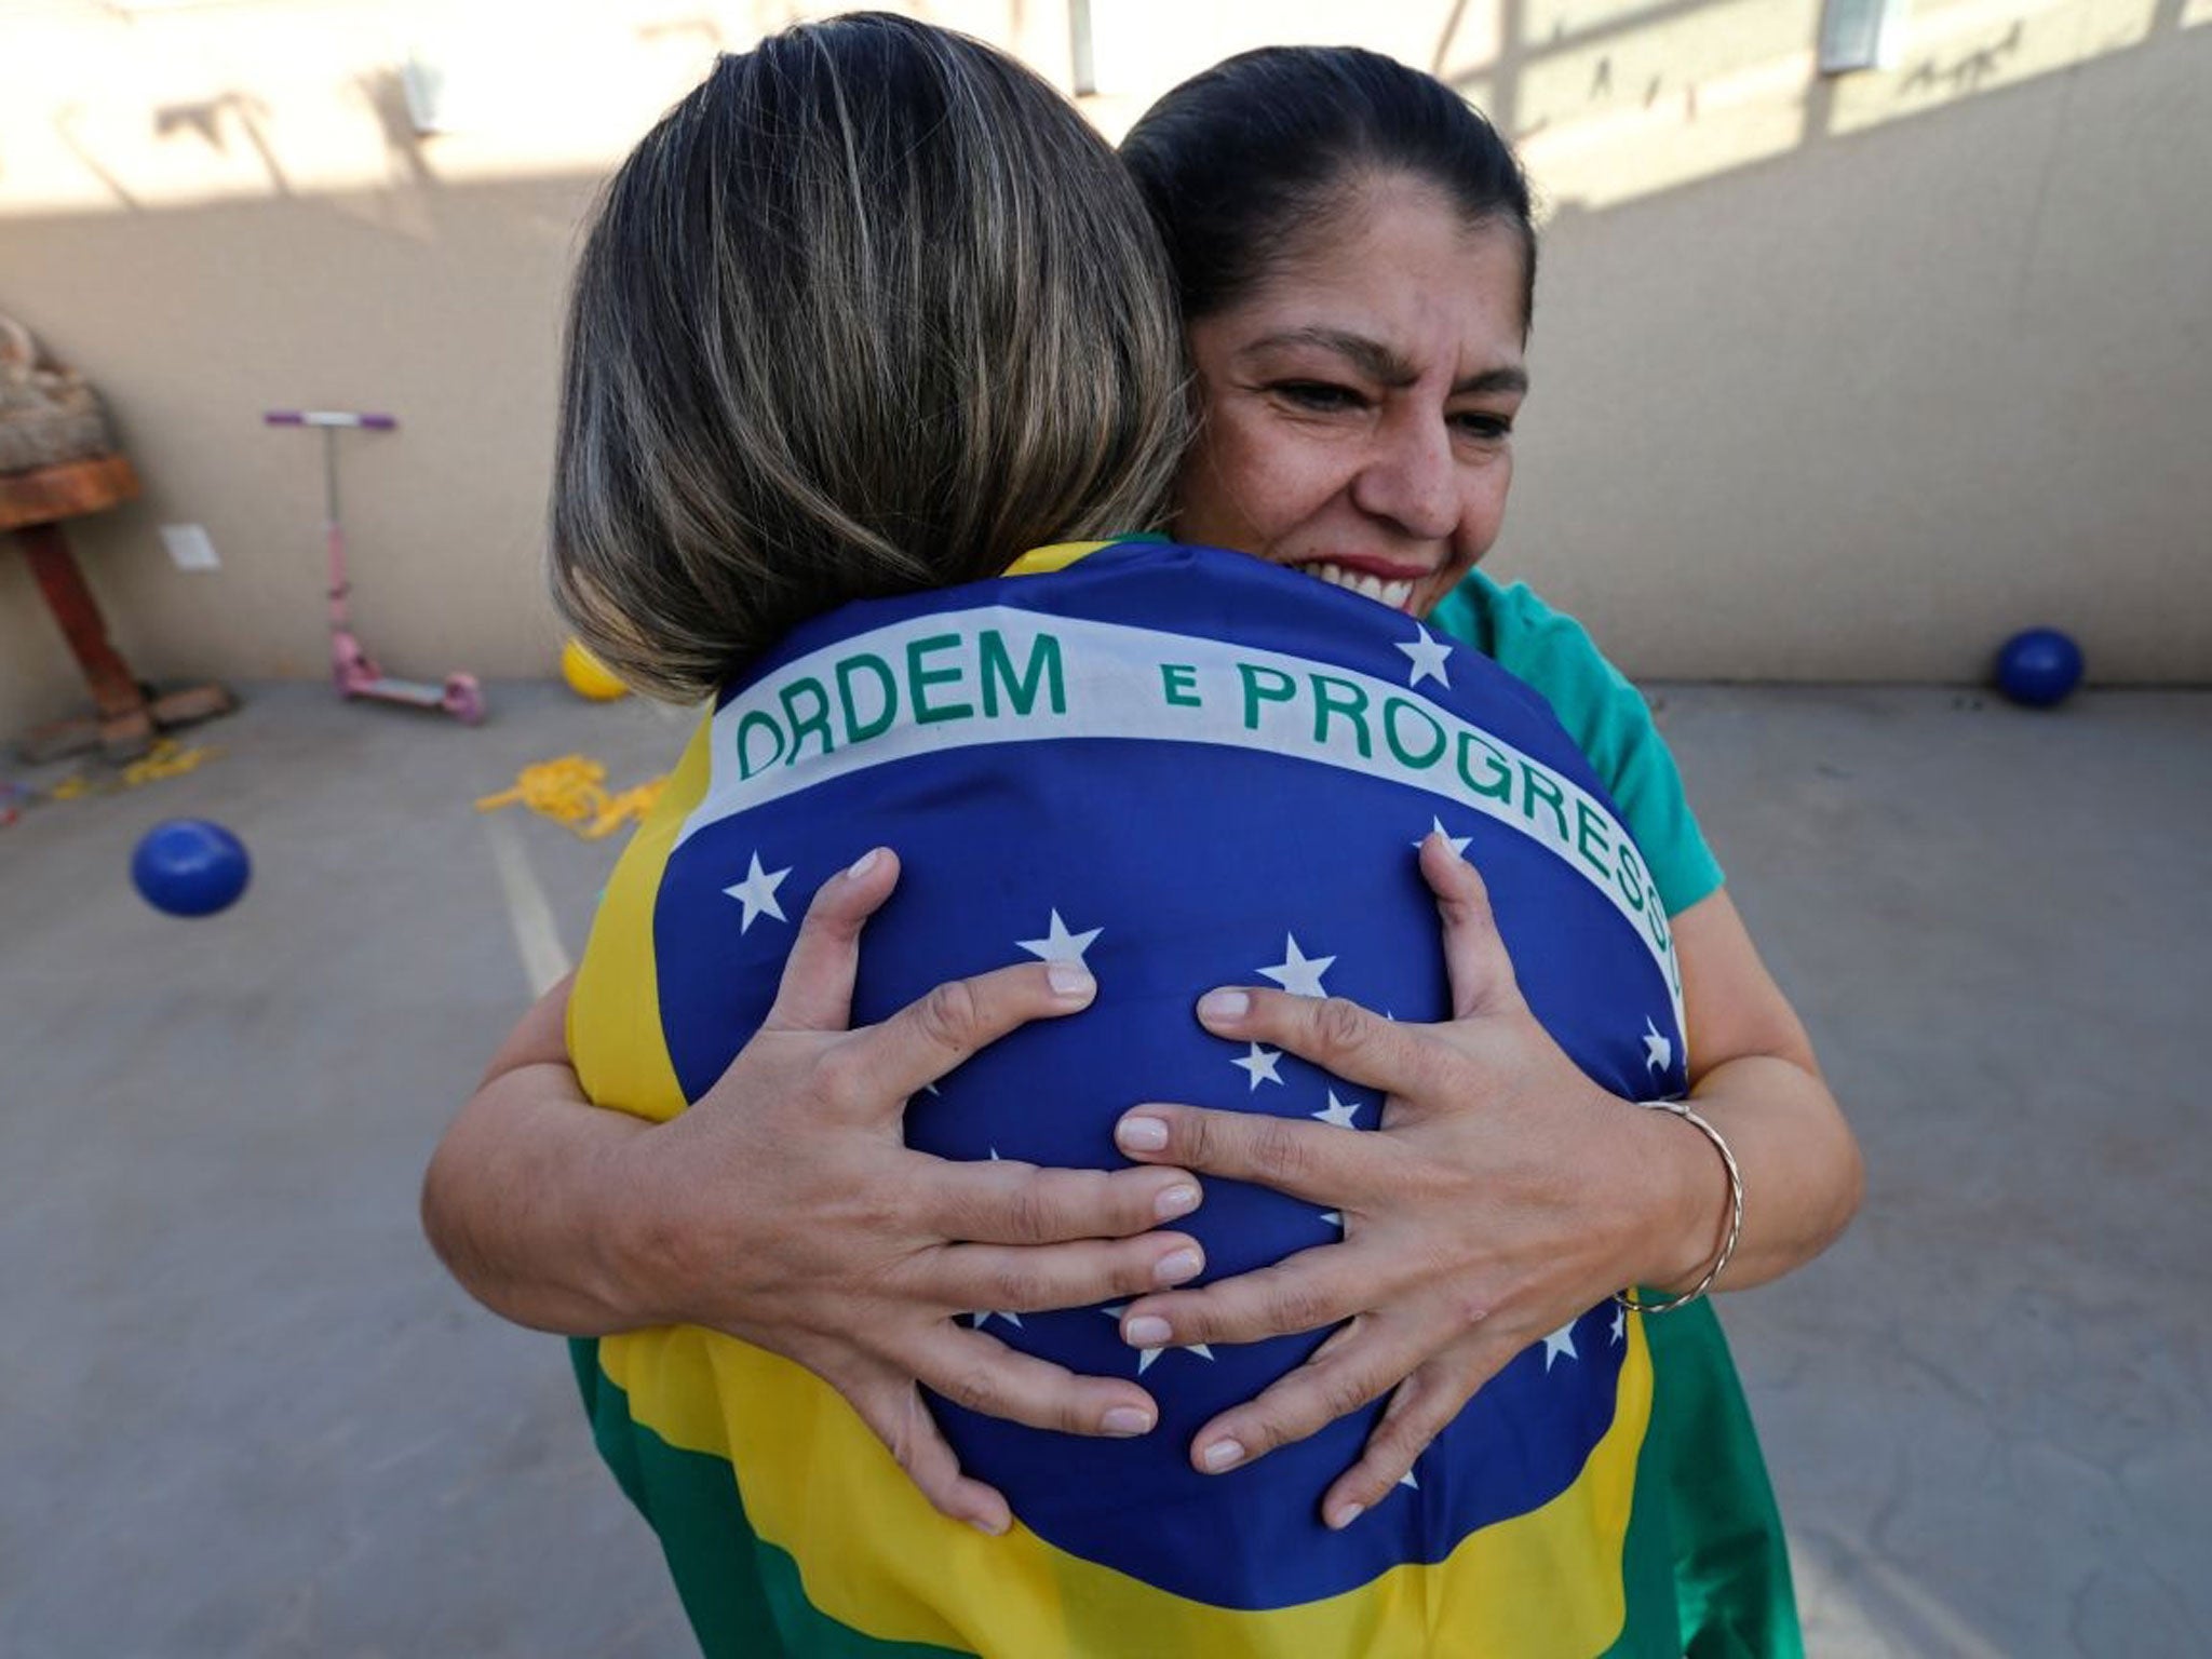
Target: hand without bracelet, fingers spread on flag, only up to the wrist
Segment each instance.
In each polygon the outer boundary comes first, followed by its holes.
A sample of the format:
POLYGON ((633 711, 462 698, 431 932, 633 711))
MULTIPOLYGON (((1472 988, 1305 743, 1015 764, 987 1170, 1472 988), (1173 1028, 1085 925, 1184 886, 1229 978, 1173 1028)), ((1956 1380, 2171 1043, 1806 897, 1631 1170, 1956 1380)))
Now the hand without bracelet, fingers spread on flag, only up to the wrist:
POLYGON ((951 1164, 905 1146, 909 1095, 1029 1020, 1086 1009, 1097 987, 1088 969, 1026 962, 847 1031, 860 927, 896 880, 878 852, 825 883, 761 1033, 688 1113, 639 1137, 641 1181, 666 1197, 644 1259, 675 1292, 659 1316, 799 1360, 933 1504, 1002 1531, 1004 1500, 960 1475, 918 1385, 1037 1429, 1148 1433, 1159 1411, 1135 1383, 1015 1354, 962 1316, 1197 1276, 1197 1241, 1150 1228, 1190 1214, 1199 1188, 1181 1170, 951 1164))

